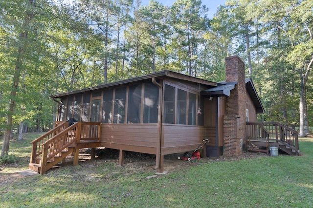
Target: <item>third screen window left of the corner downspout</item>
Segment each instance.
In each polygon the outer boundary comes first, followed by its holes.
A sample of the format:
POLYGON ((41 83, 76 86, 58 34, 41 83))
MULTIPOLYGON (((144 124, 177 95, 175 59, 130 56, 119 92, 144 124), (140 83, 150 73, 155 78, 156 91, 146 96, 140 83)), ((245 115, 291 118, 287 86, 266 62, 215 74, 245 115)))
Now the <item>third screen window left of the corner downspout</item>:
POLYGON ((126 87, 115 89, 113 123, 120 124, 125 122, 125 101, 126 87))

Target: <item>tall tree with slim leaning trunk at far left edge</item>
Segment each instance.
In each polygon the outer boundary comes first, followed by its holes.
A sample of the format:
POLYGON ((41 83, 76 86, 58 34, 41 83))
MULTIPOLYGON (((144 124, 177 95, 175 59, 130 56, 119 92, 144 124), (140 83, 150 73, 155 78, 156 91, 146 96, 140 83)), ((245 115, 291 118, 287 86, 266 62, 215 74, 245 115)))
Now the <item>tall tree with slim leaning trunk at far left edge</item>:
POLYGON ((23 9, 21 7, 17 8, 17 5, 14 5, 14 2, 2 2, 1 3, 1 19, 3 19, 3 23, 1 27, 5 31, 6 41, 13 43, 12 47, 16 48, 15 55, 15 67, 12 70, 13 78, 12 78, 12 88, 11 95, 9 100, 8 111, 6 113, 7 116, 7 124, 6 124, 6 132, 3 138, 3 146, 1 155, 7 154, 9 151, 10 144, 10 134, 12 129, 12 117, 14 114, 14 108, 16 104, 17 91, 20 82, 20 76, 23 68, 23 59, 25 57, 25 53, 28 52, 28 48, 30 45, 28 39, 28 33, 32 30, 32 23, 34 20, 35 11, 37 7, 35 7, 35 3, 33 0, 27 0, 21 2, 23 5, 23 9), (14 21, 10 21, 10 19, 14 19, 14 21), (10 22, 12 23, 10 24, 10 22), (14 31, 10 31, 10 27, 13 27, 14 31), (5 29, 4 29, 5 28, 5 29), (14 38, 9 38, 14 32, 14 38))

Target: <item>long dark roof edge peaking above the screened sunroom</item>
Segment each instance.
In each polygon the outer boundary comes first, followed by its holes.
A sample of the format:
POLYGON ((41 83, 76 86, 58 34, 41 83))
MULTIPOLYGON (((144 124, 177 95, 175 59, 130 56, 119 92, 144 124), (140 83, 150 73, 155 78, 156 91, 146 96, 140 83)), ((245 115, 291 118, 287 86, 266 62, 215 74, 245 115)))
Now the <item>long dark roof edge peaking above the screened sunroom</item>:
POLYGON ((143 76, 137 76, 134 78, 129 78, 129 79, 125 79, 125 80, 120 80, 120 81, 116 81, 116 82, 110 82, 107 84, 102 84, 102 85, 97 85, 94 87, 89 87, 89 88, 85 88, 85 89, 81 89, 81 90, 74 90, 74 91, 70 91, 70 92, 66 92, 66 93, 60 93, 60 94, 56 94, 56 95, 50 95, 49 97, 51 98, 59 98, 59 97, 63 97, 66 95, 74 95, 77 93, 83 93, 83 92, 87 92, 87 91, 94 91, 94 90, 98 90, 98 89, 103 89, 103 88, 108 88, 108 87, 113 87, 113 86, 117 86, 117 85, 123 85, 123 84, 130 84, 132 82, 137 82, 137 81, 143 81, 143 80, 147 80, 147 79, 151 79, 151 78, 157 78, 157 77, 172 77, 172 78, 176 78, 179 80, 186 80, 189 82, 194 82, 194 83, 200 83, 203 85, 207 85, 207 87, 216 87, 218 86, 217 82, 212 82, 212 81, 208 81, 205 79, 201 79, 201 78, 197 78, 194 76, 188 76, 188 75, 183 75, 177 72, 172 72, 172 71, 168 71, 168 70, 164 70, 161 72, 155 72, 152 74, 148 74, 148 75, 143 75, 143 76))

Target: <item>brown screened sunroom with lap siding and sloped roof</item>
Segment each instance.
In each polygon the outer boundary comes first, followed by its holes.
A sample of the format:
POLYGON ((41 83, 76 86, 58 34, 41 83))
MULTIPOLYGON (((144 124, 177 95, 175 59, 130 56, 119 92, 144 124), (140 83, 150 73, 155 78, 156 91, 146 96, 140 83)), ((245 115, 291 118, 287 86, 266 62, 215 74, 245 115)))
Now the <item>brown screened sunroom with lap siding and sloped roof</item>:
POLYGON ((215 119, 206 116, 216 115, 216 102, 200 92, 216 85, 162 71, 51 97, 59 102, 57 121, 100 122, 103 147, 156 154, 160 160, 210 136, 215 144, 215 119))

